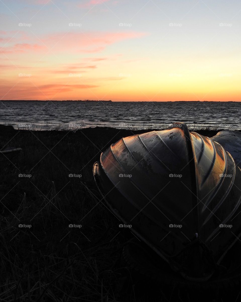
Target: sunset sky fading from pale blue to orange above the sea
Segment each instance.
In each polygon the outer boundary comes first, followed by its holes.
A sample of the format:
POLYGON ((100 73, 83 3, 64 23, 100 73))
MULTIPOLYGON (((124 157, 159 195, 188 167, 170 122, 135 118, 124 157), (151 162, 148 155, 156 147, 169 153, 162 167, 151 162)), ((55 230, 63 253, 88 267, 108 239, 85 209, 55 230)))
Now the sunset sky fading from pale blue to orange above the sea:
POLYGON ((241 101, 241 2, 0 0, 0 99, 241 101))

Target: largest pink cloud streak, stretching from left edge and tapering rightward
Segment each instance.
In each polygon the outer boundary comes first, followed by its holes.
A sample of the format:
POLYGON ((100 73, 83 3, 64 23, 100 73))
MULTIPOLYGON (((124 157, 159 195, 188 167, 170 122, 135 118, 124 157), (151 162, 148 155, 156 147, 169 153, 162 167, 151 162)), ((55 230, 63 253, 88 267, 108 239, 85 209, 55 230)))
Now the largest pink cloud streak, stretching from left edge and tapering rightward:
MULTIPOLYGON (((4 32, 5 33, 5 32, 4 32)), ((2 32, 3 34, 3 32, 2 32)), ((2 53, 98 53, 105 50, 107 45, 123 40, 135 39, 146 35, 144 32, 68 32, 49 34, 39 39, 31 36, 16 35, 14 39, 2 48, 2 53), (23 43, 27 40, 28 43, 23 43), (40 41, 42 44, 40 43, 40 41)), ((0 37, 2 43, 5 35, 0 37)), ((0 47, 1 48, 1 47, 0 47)), ((100 60, 100 59, 96 59, 100 60)))

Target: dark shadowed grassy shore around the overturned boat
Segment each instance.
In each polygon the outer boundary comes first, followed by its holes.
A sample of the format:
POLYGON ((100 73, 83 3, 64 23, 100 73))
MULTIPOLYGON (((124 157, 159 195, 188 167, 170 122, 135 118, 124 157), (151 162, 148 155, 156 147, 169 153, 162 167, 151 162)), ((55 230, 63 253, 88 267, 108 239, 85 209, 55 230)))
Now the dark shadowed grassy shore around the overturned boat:
POLYGON ((0 149, 23 149, 11 162, 0 162, 0 301, 240 301, 238 284, 212 292, 185 290, 150 281, 123 260, 122 248, 134 236, 119 229, 92 167, 111 143, 146 131, 0 126, 0 149))

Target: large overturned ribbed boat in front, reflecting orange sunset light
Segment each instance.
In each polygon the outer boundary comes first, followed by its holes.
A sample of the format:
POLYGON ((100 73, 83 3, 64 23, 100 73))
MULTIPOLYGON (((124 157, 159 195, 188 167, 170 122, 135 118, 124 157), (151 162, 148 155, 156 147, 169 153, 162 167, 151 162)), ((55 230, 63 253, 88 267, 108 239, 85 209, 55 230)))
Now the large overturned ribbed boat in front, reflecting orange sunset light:
POLYGON ((241 170, 186 124, 122 138, 93 173, 113 213, 186 280, 209 280, 241 235, 241 170))

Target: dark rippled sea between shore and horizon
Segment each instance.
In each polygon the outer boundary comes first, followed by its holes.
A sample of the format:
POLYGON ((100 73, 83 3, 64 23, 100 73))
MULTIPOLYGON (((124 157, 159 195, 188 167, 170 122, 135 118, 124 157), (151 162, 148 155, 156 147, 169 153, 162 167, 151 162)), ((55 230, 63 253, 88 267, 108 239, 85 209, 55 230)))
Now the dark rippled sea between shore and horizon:
POLYGON ((0 102, 0 124, 14 128, 159 128, 175 121, 190 127, 241 129, 241 102, 0 102))

